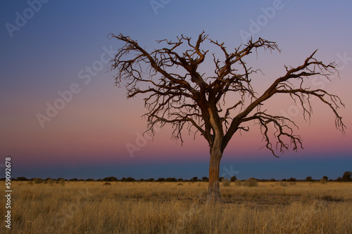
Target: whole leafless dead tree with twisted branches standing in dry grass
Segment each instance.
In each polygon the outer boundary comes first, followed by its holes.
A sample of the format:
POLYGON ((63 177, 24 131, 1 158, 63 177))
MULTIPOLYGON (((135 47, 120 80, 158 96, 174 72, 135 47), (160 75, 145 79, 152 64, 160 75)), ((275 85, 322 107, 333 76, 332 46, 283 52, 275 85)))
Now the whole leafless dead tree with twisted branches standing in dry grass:
POLYGON ((275 94, 288 95, 296 105, 301 105, 305 119, 310 118, 313 112, 310 99, 318 98, 332 110, 337 129, 344 132, 345 125, 337 112, 337 108, 344 106, 341 99, 323 89, 310 89, 303 85, 312 76, 329 79, 329 75, 338 75, 334 63, 325 64, 314 57, 316 51, 298 67, 285 66, 284 75, 275 79, 259 95, 253 90, 250 79, 258 70, 248 67, 244 58, 253 51, 257 52, 258 48, 279 51, 275 42, 259 38, 229 51, 224 43, 213 41, 202 32, 196 41, 183 35, 176 41, 158 41, 165 47, 148 52, 130 37, 122 34, 109 36, 125 43, 111 60, 111 70, 117 70, 115 84, 125 86, 127 98, 144 95, 148 110, 144 116, 151 134, 154 134, 157 124, 171 124, 172 138, 183 142, 182 130, 187 129, 201 134, 208 141, 208 200, 220 197, 222 153, 236 132, 249 131, 249 122, 260 126, 265 147, 276 157, 277 152, 302 148, 301 137, 294 134, 296 124, 289 117, 270 115, 264 110, 265 100, 275 94), (208 56, 208 50, 202 49, 203 44, 222 53, 222 61, 215 53, 210 55, 210 62, 215 68, 210 76, 199 71, 199 65, 208 56), (231 99, 227 98, 230 93, 234 93, 231 99))

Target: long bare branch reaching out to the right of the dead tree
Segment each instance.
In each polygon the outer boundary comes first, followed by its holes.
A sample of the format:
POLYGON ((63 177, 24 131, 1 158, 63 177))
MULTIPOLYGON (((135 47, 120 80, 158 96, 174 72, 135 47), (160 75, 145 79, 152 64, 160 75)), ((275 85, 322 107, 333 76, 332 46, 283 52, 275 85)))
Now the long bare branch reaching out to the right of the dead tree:
POLYGON ((334 115, 336 117, 335 126, 337 127, 337 129, 340 129, 342 132, 344 132, 346 126, 342 122, 342 117, 337 112, 337 108, 339 108, 340 105, 344 107, 344 103, 342 103, 341 99, 338 96, 330 94, 322 89, 310 90, 309 88, 303 88, 303 82, 313 75, 320 75, 329 79, 330 75, 338 74, 334 63, 329 63, 325 65, 325 63, 322 63, 321 61, 315 59, 313 56, 316 52, 317 51, 314 51, 308 58, 306 58, 304 63, 298 67, 291 67, 289 69, 285 66, 286 74, 283 77, 277 78, 275 82, 273 82, 273 84, 269 86, 269 88, 260 97, 255 98, 255 100, 253 100, 244 109, 243 112, 240 112, 236 117, 232 119, 227 134, 225 134, 224 142, 222 143, 222 148, 225 149, 227 143, 230 141, 234 133, 239 128, 239 124, 241 124, 241 119, 246 118, 246 116, 249 115, 249 113, 251 113, 256 108, 260 110, 260 105, 263 105, 263 102, 271 98, 275 93, 289 93, 289 95, 295 102, 295 98, 298 98, 303 108, 303 118, 306 118, 306 114, 308 114, 308 116, 310 117, 311 113, 313 112, 313 108, 310 105, 310 96, 317 96, 334 112, 334 115), (295 89, 294 85, 290 82, 290 80, 300 81, 299 88, 295 89), (304 96, 305 94, 307 95, 307 97, 304 96), (328 96, 329 101, 324 98, 324 96, 328 96))

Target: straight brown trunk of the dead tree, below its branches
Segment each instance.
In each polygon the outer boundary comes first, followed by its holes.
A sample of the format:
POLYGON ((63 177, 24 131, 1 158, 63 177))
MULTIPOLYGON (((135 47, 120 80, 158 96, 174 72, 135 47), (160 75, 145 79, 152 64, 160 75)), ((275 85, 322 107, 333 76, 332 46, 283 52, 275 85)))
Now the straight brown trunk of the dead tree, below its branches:
POLYGON ((216 202, 220 199, 219 170, 222 157, 220 146, 221 144, 218 142, 210 149, 208 202, 216 202))

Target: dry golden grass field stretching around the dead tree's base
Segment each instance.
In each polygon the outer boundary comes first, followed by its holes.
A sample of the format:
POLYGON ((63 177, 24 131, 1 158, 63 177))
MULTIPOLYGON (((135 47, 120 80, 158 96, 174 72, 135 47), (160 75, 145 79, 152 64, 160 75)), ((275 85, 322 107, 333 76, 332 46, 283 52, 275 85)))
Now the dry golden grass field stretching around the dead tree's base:
POLYGON ((207 186, 14 181, 11 232, 1 205, 1 233, 352 233, 352 183, 231 183, 216 204, 207 186))

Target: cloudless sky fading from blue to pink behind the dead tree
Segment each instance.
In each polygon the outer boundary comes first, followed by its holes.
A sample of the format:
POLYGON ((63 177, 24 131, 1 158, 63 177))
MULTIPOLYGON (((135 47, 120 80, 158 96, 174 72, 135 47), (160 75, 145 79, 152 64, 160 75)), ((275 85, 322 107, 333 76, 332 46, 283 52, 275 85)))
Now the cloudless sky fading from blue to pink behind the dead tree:
POLYGON ((143 96, 126 100, 106 63, 123 45, 109 40, 110 32, 137 39, 152 51, 156 40, 197 37, 203 30, 227 48, 244 43, 244 31, 253 32, 253 39, 277 42, 281 53, 259 51, 258 59, 252 54, 246 60, 265 74, 253 77, 259 91, 284 74, 284 65, 300 65, 318 48, 316 58, 335 61, 340 79, 307 84, 338 94, 346 104, 339 110, 347 126, 341 134, 332 112, 317 100, 311 122, 305 122, 291 100, 275 97, 266 108, 286 113, 300 126, 296 134, 303 138, 304 150, 277 159, 260 150, 260 131, 251 126, 251 132, 235 135, 225 150, 221 175, 337 178, 352 171, 351 1, 29 0, 1 1, 0 8, 0 164, 11 155, 14 177, 208 176, 206 141, 185 136, 181 146, 170 139, 169 128, 161 129, 154 141, 139 142, 142 147, 131 157, 126 145, 136 145, 146 127, 143 96), (258 20, 260 28, 253 27, 258 20), (95 70, 89 72, 89 67, 95 70), (75 94, 60 103, 59 92, 70 89, 75 94), (38 114, 46 115, 48 103, 62 108, 40 124, 38 114))

